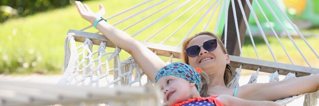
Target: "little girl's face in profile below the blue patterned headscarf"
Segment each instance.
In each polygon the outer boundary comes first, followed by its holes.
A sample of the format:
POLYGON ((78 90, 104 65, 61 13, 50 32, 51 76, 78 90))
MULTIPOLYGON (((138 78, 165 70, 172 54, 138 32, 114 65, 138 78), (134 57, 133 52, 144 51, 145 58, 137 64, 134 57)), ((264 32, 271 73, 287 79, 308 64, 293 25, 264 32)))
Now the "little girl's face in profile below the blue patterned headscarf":
MULTIPOLYGON (((185 101, 192 97, 192 83, 176 76, 165 76, 158 79, 157 84, 161 87, 166 104, 185 101)), ((193 83, 194 84, 194 83, 193 83)))

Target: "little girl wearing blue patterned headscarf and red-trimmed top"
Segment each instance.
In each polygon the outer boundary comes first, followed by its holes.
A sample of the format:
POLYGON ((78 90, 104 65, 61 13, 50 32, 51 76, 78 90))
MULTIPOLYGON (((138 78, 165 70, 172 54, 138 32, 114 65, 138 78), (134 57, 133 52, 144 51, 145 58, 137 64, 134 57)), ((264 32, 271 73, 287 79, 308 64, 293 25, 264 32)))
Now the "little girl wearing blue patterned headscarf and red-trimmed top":
POLYGON ((207 75, 200 68, 175 62, 159 69, 155 83, 161 87, 163 100, 168 105, 279 105, 273 101, 244 100, 228 95, 201 97, 199 91, 205 90, 200 88, 201 81, 205 86, 208 84, 206 79, 207 75))

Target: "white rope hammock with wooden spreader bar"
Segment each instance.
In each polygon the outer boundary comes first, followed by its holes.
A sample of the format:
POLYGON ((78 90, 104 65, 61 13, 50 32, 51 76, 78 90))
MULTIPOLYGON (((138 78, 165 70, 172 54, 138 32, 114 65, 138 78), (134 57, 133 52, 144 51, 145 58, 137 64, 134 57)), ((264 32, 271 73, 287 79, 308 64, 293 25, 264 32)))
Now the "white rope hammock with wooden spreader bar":
MULTIPOLYGON (((256 73, 252 75, 249 83, 256 83, 259 72, 272 73, 270 75, 270 82, 278 81, 278 74, 286 75, 284 80, 318 74, 319 69, 312 66, 313 63, 309 62, 307 56, 303 53, 312 53, 313 56, 311 58, 316 59, 319 59, 318 54, 303 37, 298 27, 284 14, 284 11, 280 7, 281 4, 279 3, 281 2, 275 0, 147 0, 132 4, 131 8, 117 12, 117 14, 109 16, 107 20, 117 28, 129 33, 136 40, 141 41, 158 56, 163 56, 163 59, 168 61, 167 63, 179 61, 178 58, 181 53, 179 47, 182 41, 190 35, 192 36, 194 33, 201 31, 210 31, 217 35, 222 35, 222 40, 230 54, 230 65, 233 68, 237 68, 234 70, 235 75, 228 85, 229 88, 239 86, 238 80, 240 79, 242 69, 256 71, 256 73), (265 11, 271 14, 265 14, 265 11), (251 19, 248 20, 248 17, 251 19), (269 20, 268 18, 270 17, 275 20, 269 20), (279 17, 281 18, 279 19, 279 17), (259 22, 260 18, 265 20, 264 23, 259 22), (255 21, 257 29, 252 29, 253 27, 249 24, 249 21, 252 20, 255 21), (276 25, 279 25, 282 30, 284 30, 284 35, 291 41, 290 45, 281 42, 278 35, 279 33, 281 35, 282 32, 278 32, 273 28, 274 23, 277 23, 276 25), (264 32, 264 24, 266 24, 266 26, 268 26, 267 28, 272 32, 270 35, 278 40, 277 44, 280 45, 280 50, 273 51, 272 47, 274 46, 268 41, 268 34, 264 32), (287 27, 294 29, 294 32, 288 31, 286 29, 287 27), (262 41, 256 42, 257 44, 253 38, 253 34, 255 33, 252 32, 255 30, 259 30, 259 35, 262 36, 262 41), (248 43, 251 45, 251 48, 242 48, 246 33, 249 35, 249 39, 247 40, 250 40, 248 43), (308 51, 305 49, 300 50, 298 44, 291 36, 291 34, 296 35, 296 33, 298 37, 304 41, 308 51), (260 43, 264 43, 269 51, 261 51, 258 48, 258 46, 260 47, 260 43), (291 45, 295 47, 295 51, 285 48, 291 45), (254 53, 243 54, 242 51, 253 51, 254 53), (269 52, 269 55, 259 56, 258 51, 259 53, 269 52), (287 56, 287 60, 290 62, 289 64, 277 61, 274 52, 278 51, 287 56), (289 56, 291 52, 299 53, 298 56, 295 55, 293 57, 303 58, 305 61, 303 63, 306 63, 307 66, 300 66, 300 63, 294 63, 294 58, 289 56), (256 55, 256 57, 245 57, 252 54, 256 55), (261 57, 272 57, 272 60, 261 57)), ((98 88, 131 87, 151 84, 132 57, 127 57, 125 51, 124 53, 123 51, 120 52, 120 48, 99 34, 100 32, 94 32, 94 30, 92 25, 90 25, 81 30, 70 29, 67 32, 65 39, 64 75, 59 81, 59 84, 93 86, 98 88), (119 55, 122 56, 120 57, 119 55)), ((314 97, 310 97, 309 94, 306 94, 305 99, 307 99, 304 105, 316 104, 318 94, 312 93, 310 95, 314 97)), ((285 105, 300 96, 303 95, 288 97, 277 100, 276 102, 285 105)), ((114 97, 116 99, 116 96, 114 97)), ((131 99, 135 98, 134 96, 131 97, 131 99)), ((142 98, 140 100, 147 101, 148 99, 142 98)), ((88 102, 90 102, 90 100, 88 100, 88 102)), ((116 100, 114 100, 114 102, 116 102, 116 100)), ((95 103, 102 103, 101 105, 108 104, 107 102, 98 101, 95 103)))

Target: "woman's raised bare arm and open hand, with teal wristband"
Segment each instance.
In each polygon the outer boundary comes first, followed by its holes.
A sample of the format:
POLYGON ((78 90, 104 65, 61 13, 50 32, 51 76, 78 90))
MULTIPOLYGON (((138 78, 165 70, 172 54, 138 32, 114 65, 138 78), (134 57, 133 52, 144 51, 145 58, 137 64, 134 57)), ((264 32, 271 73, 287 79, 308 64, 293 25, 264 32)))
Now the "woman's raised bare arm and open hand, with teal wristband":
MULTIPOLYGON (((90 23, 94 23, 95 19, 100 17, 100 14, 94 13, 87 5, 83 5, 81 2, 75 2, 79 14, 85 20, 90 23)), ((100 12, 103 11, 103 6, 100 5, 100 12)), ((99 21, 97 23, 97 29, 103 33, 112 43, 130 53, 132 57, 139 63, 141 68, 147 77, 154 82, 157 70, 165 65, 165 62, 159 58, 156 54, 150 51, 142 43, 131 38, 124 31, 112 26, 105 21, 99 21)))

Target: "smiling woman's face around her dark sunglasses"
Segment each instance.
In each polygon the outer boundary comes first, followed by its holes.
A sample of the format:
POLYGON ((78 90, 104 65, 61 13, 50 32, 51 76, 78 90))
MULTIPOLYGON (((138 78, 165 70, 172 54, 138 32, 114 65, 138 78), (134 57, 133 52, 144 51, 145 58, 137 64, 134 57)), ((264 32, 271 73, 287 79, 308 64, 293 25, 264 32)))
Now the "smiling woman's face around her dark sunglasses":
MULTIPOLYGON (((204 42, 212 39, 215 38, 203 34, 191 40, 187 48, 194 45, 203 45, 204 42)), ((208 75, 214 75, 216 72, 224 75, 226 64, 230 63, 229 56, 222 51, 219 43, 217 44, 217 48, 212 51, 207 51, 203 46, 200 46, 200 52, 197 56, 188 56, 190 65, 202 68, 208 75)))

